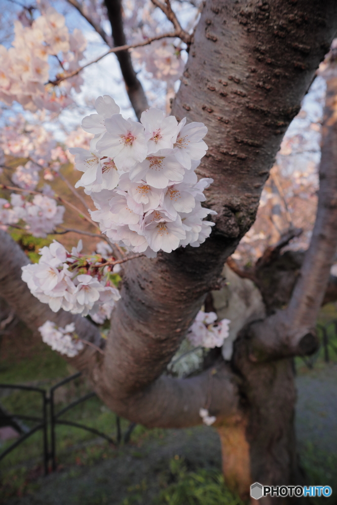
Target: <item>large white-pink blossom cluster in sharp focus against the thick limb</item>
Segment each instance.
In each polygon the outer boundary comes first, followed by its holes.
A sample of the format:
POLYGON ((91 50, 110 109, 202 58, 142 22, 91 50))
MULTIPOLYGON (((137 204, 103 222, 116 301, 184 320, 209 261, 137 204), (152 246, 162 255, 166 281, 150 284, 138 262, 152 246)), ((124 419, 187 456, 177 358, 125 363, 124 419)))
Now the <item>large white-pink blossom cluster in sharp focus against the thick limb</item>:
POLYGON ((82 128, 94 134, 90 150, 71 148, 83 186, 97 211, 91 218, 111 242, 155 257, 180 245, 198 247, 214 223, 203 193, 213 179, 198 181, 195 169, 206 154, 203 123, 178 124, 159 109, 142 113, 140 123, 124 119, 108 96, 100 96, 82 128))

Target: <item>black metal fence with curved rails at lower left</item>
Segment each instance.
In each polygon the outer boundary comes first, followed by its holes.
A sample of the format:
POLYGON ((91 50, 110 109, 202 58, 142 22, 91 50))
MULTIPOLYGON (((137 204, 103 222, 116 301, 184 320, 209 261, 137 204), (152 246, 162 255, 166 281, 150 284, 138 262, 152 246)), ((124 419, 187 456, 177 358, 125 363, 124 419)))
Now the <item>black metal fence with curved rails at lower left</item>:
POLYGON ((63 386, 64 384, 67 384, 70 381, 77 379, 80 376, 81 372, 71 375, 70 377, 67 377, 61 382, 55 384, 55 386, 51 387, 49 391, 33 386, 21 386, 18 384, 0 384, 0 388, 2 389, 21 389, 23 391, 24 390, 35 391, 39 393, 42 398, 41 417, 25 416, 22 414, 10 414, 5 412, 4 409, 0 409, 0 426, 9 426, 9 425, 13 426, 20 433, 20 437, 15 442, 13 442, 9 447, 7 447, 7 449, 5 449, 3 452, 0 453, 0 461, 3 460, 18 445, 20 445, 22 442, 27 440, 27 438, 33 435, 33 433, 35 433, 38 430, 42 430, 44 473, 45 475, 47 475, 50 472, 50 470, 52 471, 56 470, 57 424, 64 424, 68 426, 73 426, 75 428, 79 428, 81 430, 89 431, 94 435, 97 435, 101 438, 104 438, 105 440, 108 440, 109 443, 112 443, 114 445, 119 445, 122 441, 124 443, 127 443, 129 441, 131 433, 136 424, 130 423, 123 435, 121 430, 120 418, 118 416, 116 416, 116 439, 111 438, 106 433, 102 433, 101 431, 98 431, 95 428, 91 428, 90 426, 85 426, 84 424, 79 424, 73 421, 67 421, 66 419, 61 419, 61 416, 63 416, 70 409, 73 409, 74 407, 79 405, 79 403, 82 403, 83 401, 86 401, 89 398, 92 398, 93 396, 96 395, 96 393, 93 391, 87 393, 84 396, 81 396, 80 398, 72 401, 71 403, 69 403, 69 405, 67 405, 60 411, 56 412, 55 391, 59 387, 63 386), (32 428, 28 429, 22 427, 22 425, 20 424, 21 420, 35 421, 37 424, 32 428))

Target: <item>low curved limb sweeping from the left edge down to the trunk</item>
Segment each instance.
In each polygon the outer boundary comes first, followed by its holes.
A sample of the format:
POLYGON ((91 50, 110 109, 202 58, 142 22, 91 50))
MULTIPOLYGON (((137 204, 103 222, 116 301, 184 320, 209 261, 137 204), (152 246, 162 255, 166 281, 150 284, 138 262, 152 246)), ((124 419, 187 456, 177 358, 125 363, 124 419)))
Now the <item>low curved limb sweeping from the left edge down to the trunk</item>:
MULTIPOLYGON (((55 314, 30 293, 26 283, 21 280, 21 266, 28 264, 29 260, 18 244, 2 230, 0 256, 0 296, 6 299, 7 304, 33 331, 46 320, 62 327, 75 322, 76 333, 93 346, 85 346, 78 357, 67 360, 89 376, 95 391, 113 411, 131 421, 162 427, 200 424, 199 409, 208 403, 210 411, 219 420, 237 415, 237 388, 232 374, 223 363, 214 366, 212 371, 208 370, 190 379, 178 380, 163 376, 145 388, 135 387, 135 384, 129 388, 130 381, 124 387, 125 370, 121 357, 117 357, 118 363, 115 363, 114 357, 105 349, 103 362, 101 353, 95 351, 95 346, 102 347, 105 342, 101 339, 98 328, 86 318, 63 310, 55 314), (113 381, 112 367, 116 377, 113 381)), ((118 336, 118 328, 115 330, 118 336)), ((136 361, 136 356, 133 359, 136 361)), ((130 373, 133 376, 131 370, 130 373)), ((141 377, 137 382, 139 386, 141 377)))

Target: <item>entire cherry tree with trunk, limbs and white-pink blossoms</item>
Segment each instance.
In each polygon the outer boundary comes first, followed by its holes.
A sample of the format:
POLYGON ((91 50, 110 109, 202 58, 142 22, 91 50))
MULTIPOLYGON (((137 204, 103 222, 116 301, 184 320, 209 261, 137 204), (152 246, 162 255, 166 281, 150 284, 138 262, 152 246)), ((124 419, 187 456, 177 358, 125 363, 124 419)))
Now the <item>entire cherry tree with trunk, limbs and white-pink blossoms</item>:
POLYGON ((119 415, 148 427, 215 426, 226 482, 243 497, 254 481, 302 483, 292 360, 316 350, 317 314, 334 296, 333 46, 320 70, 317 211, 314 176, 282 172, 296 135, 274 162, 337 31, 335 2, 55 6, 13 10, 14 34, 0 46, 0 295, 119 415), (106 45, 98 57, 86 59, 85 36, 68 27, 74 13, 106 45), (113 83, 95 111, 88 97, 77 104, 85 69, 113 53, 131 118, 113 83), (67 130, 67 110, 85 110, 81 127, 67 130), (82 172, 75 187, 61 171, 69 161, 82 172), (45 182, 54 179, 76 200, 45 182), (303 191, 309 204, 299 203, 303 191), (71 251, 55 240, 31 264, 8 231, 67 233, 65 208, 91 226, 76 233, 103 241, 87 254, 81 240, 71 251), (304 231, 294 225, 303 210, 304 231), (310 245, 280 275, 275 265, 301 231, 310 245), (254 234, 269 237, 259 251, 254 234), (247 255, 259 258, 254 268, 247 255))

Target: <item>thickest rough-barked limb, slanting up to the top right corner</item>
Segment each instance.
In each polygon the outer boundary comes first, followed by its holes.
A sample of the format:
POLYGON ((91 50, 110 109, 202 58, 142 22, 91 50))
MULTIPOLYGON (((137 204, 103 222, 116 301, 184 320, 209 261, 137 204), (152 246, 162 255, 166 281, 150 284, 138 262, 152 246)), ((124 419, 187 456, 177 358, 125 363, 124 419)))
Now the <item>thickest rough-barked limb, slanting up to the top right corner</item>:
MULTIPOLYGON (((148 426, 200 422, 199 408, 209 401, 210 371, 182 381, 161 374, 206 293, 218 284, 226 258, 252 225, 285 128, 337 28, 334 0, 298 0, 296 6, 275 0, 265 9, 260 0, 206 2, 173 103, 179 120, 187 116, 208 127, 209 150, 198 170, 215 181, 206 203, 218 211, 214 232, 200 247, 125 263, 122 298, 112 313, 103 361, 82 365, 113 410, 148 426), (299 12, 306 13, 305 23, 294 29, 292 19, 299 12)), ((2 258, 9 250, 8 261, 14 261, 13 245, 0 241, 2 258)), ((0 264, 0 279, 14 306, 20 292, 8 292, 15 272, 8 261, 0 264)), ((33 326, 30 313, 36 304, 19 304, 20 315, 33 326)), ((82 363, 81 356, 73 363, 82 363)), ((236 415, 233 376, 223 363, 215 369, 210 414, 236 415)))

